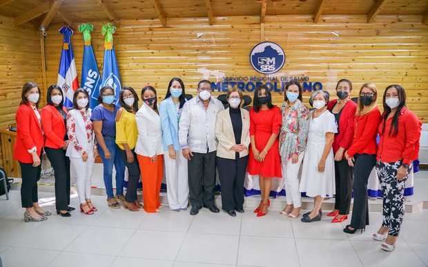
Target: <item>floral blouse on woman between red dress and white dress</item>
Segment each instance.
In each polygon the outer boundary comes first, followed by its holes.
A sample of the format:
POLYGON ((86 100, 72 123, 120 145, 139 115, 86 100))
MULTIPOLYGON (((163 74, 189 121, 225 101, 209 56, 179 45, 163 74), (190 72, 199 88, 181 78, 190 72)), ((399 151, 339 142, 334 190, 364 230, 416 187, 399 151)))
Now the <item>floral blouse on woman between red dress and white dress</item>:
POLYGON ((282 127, 280 132, 281 160, 286 161, 293 154, 300 154, 306 148, 309 131, 309 109, 296 100, 286 114, 286 103, 282 104, 282 127))

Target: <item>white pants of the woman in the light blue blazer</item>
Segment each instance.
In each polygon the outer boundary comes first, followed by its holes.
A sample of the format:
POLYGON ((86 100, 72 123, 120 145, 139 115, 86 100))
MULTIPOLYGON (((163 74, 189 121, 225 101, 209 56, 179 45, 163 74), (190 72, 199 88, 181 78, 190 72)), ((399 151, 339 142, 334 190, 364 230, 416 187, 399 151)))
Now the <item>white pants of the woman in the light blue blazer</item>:
POLYGON ((164 154, 166 195, 171 210, 187 208, 188 205, 188 176, 187 160, 182 151, 176 151, 175 160, 164 154))

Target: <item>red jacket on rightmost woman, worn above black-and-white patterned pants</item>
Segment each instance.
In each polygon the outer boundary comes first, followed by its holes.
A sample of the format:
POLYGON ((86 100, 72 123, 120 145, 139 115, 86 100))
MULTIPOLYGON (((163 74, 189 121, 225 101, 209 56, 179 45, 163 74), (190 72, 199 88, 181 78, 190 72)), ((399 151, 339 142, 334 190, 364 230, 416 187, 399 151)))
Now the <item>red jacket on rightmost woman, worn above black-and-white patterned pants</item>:
POLYGON ((382 160, 385 163, 402 160, 402 163, 410 164, 413 160, 418 159, 422 122, 405 107, 401 109, 400 116, 398 116, 396 136, 393 135, 393 131, 391 136, 389 135, 391 122, 392 118, 389 118, 385 124, 385 131, 382 131, 384 120, 380 122, 377 160, 382 160))

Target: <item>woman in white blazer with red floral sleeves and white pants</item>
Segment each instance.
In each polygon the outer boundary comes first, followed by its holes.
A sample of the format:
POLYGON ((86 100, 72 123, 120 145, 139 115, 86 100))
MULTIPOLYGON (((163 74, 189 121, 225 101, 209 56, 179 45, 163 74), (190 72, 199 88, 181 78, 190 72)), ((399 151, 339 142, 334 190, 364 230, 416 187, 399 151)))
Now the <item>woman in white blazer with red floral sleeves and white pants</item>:
POLYGON ((77 181, 80 211, 90 215, 97 211, 90 201, 91 176, 97 149, 94 149, 94 129, 90 120, 88 92, 77 89, 72 103, 73 109, 67 114, 67 134, 70 142, 66 156, 70 158, 70 177, 75 177, 77 181))

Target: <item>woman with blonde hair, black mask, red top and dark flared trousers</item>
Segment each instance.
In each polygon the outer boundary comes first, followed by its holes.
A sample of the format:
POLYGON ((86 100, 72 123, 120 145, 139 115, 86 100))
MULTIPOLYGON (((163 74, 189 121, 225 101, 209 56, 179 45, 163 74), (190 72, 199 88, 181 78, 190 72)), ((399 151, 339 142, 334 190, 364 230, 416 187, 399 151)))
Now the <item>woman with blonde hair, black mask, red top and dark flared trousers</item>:
POLYGON ((353 234, 365 230, 369 225, 369 203, 367 182, 376 165, 376 136, 380 122, 380 111, 376 104, 378 90, 374 84, 364 84, 360 89, 357 111, 354 119, 354 133, 351 147, 344 156, 353 168, 353 209, 351 224, 344 232, 353 234))

